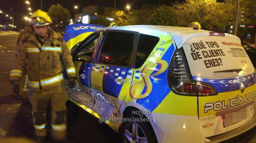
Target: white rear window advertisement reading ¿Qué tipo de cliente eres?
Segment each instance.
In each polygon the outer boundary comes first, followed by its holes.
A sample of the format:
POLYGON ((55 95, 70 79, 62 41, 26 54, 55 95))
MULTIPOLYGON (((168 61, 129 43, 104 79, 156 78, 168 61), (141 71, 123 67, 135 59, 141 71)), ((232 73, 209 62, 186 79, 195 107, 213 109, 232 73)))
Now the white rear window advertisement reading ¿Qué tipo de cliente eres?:
POLYGON ((183 44, 192 75, 227 78, 254 72, 254 67, 241 43, 230 37, 197 37, 183 44), (242 69, 237 72, 216 72, 242 69))

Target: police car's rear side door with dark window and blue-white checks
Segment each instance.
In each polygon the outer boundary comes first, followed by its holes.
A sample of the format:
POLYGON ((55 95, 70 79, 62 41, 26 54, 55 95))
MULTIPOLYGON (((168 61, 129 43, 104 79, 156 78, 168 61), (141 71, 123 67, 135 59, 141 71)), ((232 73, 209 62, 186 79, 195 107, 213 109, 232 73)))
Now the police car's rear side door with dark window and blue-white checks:
POLYGON ((102 117, 119 115, 122 99, 128 95, 135 66, 137 33, 106 31, 90 74, 93 110, 102 117))

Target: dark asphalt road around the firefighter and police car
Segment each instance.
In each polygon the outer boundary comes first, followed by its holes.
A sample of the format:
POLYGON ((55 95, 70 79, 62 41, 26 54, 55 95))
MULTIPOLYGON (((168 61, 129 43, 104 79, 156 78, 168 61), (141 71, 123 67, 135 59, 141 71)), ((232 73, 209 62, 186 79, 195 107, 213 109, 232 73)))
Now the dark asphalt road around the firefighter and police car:
MULTIPOLYGON (((31 105, 22 104, 9 83, 17 35, 0 36, 0 139, 23 137, 35 140, 31 105)), ((119 135, 98 119, 71 102, 67 103, 67 138, 69 143, 119 143, 119 135)), ((256 143, 256 127, 225 143, 256 143)), ((185 137, 185 135, 184 135, 185 137)), ((50 143, 52 140, 48 138, 50 143)), ((0 141, 1 142, 1 141, 0 141)))

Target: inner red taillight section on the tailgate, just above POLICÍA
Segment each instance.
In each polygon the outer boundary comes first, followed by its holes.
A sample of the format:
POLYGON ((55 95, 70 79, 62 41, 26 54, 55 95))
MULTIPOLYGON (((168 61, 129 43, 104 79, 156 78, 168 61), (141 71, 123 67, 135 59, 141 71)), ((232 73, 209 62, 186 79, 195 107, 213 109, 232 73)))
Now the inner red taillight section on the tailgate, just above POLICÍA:
POLYGON ((197 85, 197 92, 199 96, 217 95, 216 90, 210 85, 206 85, 200 82, 197 82, 196 85, 197 85))

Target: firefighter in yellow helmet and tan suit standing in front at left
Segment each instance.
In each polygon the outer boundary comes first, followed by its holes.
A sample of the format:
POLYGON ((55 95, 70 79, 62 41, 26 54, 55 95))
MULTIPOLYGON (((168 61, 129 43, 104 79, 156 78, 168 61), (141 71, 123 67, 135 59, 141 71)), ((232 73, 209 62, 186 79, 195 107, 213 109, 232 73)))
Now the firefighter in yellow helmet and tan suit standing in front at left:
POLYGON ((62 71, 66 70, 69 86, 76 82, 76 71, 69 48, 55 31, 46 12, 37 10, 31 16, 34 31, 19 42, 10 74, 12 91, 19 92, 22 70, 27 60, 29 101, 32 104, 33 123, 38 142, 46 140, 45 112, 51 103, 51 133, 55 141, 66 141, 66 101, 62 71))

